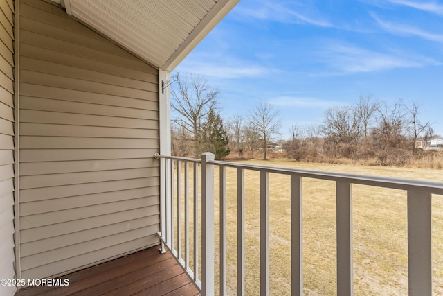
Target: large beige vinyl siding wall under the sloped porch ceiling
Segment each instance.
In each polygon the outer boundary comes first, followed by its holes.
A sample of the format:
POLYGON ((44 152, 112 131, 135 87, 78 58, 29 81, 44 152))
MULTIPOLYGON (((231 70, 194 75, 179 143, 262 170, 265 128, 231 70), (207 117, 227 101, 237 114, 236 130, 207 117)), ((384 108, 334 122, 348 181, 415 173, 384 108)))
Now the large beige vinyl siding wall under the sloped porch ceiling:
POLYGON ((158 70, 51 3, 18 26, 21 277, 158 244, 158 70))

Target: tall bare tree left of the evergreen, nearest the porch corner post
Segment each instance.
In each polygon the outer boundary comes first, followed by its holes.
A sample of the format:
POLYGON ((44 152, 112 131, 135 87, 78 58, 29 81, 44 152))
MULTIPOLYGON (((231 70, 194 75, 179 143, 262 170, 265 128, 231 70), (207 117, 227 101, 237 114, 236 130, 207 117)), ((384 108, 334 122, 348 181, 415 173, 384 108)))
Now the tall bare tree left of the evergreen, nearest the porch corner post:
MULTIPOLYGON (((183 76, 180 76, 183 77, 183 76)), ((199 157, 199 130, 209 110, 217 105, 219 89, 208 85, 199 76, 190 75, 177 81, 172 89, 171 107, 178 113, 173 120, 192 134, 194 155, 199 157)))

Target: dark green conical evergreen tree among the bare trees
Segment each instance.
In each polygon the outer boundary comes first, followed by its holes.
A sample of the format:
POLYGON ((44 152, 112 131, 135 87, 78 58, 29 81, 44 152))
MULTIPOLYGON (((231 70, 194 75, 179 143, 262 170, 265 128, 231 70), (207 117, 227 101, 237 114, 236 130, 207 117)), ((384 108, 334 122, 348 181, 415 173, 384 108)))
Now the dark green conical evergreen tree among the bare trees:
POLYGON ((210 108, 206 123, 201 129, 201 146, 204 151, 214 153, 215 159, 223 159, 230 153, 227 148, 229 139, 228 133, 223 127, 221 116, 217 114, 214 108, 210 108))

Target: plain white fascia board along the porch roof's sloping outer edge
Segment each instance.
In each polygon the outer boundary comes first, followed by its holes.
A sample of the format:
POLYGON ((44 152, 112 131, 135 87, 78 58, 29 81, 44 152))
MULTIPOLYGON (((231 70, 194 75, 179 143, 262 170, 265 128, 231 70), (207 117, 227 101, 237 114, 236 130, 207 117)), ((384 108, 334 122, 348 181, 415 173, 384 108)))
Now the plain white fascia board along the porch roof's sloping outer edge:
POLYGON ((172 71, 188 55, 192 49, 208 35, 208 33, 223 19, 240 0, 219 0, 208 14, 199 22, 186 40, 179 46, 161 69, 172 71))

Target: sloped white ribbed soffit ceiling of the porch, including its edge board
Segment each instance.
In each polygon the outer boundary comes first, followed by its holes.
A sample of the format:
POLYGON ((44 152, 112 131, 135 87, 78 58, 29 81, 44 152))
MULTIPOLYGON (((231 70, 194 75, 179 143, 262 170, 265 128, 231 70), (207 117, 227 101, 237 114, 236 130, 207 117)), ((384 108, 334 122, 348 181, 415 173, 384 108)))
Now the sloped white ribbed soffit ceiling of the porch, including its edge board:
POLYGON ((120 46, 172 71, 239 0, 53 0, 120 46))

